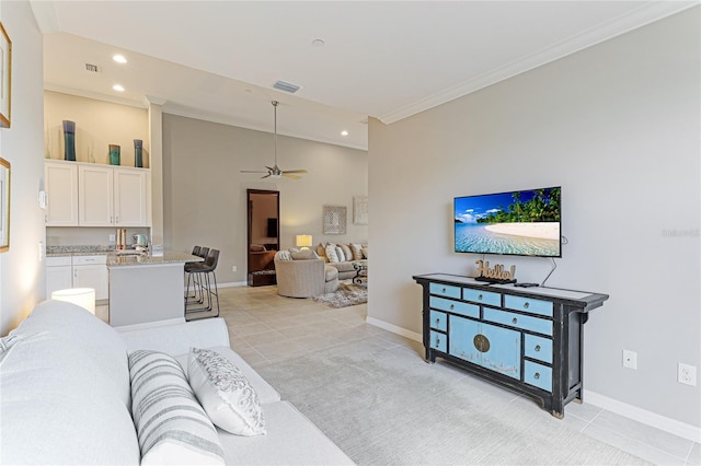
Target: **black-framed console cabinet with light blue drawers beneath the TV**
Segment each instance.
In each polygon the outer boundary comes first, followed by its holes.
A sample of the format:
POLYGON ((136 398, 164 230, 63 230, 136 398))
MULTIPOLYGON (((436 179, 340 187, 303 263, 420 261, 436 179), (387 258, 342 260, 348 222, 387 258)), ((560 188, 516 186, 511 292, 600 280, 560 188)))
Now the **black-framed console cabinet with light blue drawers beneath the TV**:
POLYGON ((426 360, 441 358, 540 401, 554 417, 582 400, 584 324, 608 294, 486 284, 447 273, 423 287, 426 360))

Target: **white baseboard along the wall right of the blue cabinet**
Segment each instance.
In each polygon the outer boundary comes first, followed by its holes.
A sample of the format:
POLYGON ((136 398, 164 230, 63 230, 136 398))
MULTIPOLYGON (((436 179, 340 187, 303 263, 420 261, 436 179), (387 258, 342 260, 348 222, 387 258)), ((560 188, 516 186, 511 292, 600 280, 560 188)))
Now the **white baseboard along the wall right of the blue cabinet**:
POLYGON ((590 403, 599 408, 616 412, 617 415, 633 419, 634 421, 654 427, 665 432, 681 436, 692 442, 701 443, 701 428, 680 422, 665 416, 629 405, 618 399, 609 398, 596 392, 584 392, 585 403, 590 403))

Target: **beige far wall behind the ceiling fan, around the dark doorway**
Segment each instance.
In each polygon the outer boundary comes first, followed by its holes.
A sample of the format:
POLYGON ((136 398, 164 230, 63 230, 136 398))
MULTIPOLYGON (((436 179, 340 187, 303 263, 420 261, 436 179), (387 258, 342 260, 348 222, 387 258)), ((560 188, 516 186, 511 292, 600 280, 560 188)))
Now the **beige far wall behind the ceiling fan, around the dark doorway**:
POLYGON ((368 226, 353 224, 353 197, 368 193, 366 151, 278 135, 277 158, 283 170, 307 168, 309 174, 297 180, 242 174, 274 163, 272 133, 164 114, 165 248, 218 248, 217 279, 245 281, 249 188, 280 191, 283 248, 294 246, 295 235, 302 233, 315 244, 367 242, 368 226), (347 234, 322 234, 324 205, 347 207, 347 234))

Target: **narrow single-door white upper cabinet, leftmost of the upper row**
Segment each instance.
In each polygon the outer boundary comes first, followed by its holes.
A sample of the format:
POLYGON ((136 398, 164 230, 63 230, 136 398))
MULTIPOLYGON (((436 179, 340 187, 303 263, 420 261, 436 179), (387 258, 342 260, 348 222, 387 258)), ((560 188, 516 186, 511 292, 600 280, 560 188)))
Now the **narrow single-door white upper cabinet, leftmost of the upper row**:
POLYGON ((72 162, 46 162, 44 164, 47 207, 45 221, 48 226, 78 225, 78 166, 72 162))

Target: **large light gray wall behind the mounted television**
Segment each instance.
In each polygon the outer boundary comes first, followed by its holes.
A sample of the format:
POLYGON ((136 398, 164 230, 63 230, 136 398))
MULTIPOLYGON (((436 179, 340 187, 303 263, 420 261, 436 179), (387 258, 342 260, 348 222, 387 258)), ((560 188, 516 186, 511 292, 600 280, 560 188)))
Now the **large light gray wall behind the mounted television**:
MULTIPOLYGON (((551 287, 609 293, 585 333, 586 389, 701 426, 699 8, 414 117, 369 127, 370 318, 421 331, 412 275, 474 275, 452 198, 562 186, 551 287), (621 351, 639 354, 622 368, 621 351)), ((549 259, 515 264, 540 282, 549 259)))

